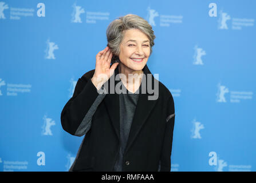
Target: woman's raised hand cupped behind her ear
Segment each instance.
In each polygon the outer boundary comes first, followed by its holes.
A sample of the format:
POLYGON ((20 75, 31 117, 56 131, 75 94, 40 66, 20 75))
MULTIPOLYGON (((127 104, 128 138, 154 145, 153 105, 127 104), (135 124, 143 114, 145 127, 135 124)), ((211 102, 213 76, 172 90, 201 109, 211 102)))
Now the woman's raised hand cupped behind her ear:
POLYGON ((101 86, 113 75, 119 63, 111 64, 112 53, 109 47, 105 47, 96 55, 96 66, 92 77, 93 85, 99 90, 101 86))

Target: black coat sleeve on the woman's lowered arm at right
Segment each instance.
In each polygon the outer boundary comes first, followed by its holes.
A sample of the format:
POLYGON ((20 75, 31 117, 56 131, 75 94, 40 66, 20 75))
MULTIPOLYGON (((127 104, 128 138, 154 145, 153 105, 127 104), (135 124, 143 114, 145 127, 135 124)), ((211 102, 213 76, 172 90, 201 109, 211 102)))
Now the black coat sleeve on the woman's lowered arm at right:
POLYGON ((171 171, 171 152, 172 152, 172 137, 174 132, 174 100, 172 96, 167 101, 167 114, 166 114, 166 129, 164 132, 164 140, 160 157, 160 172, 171 171))

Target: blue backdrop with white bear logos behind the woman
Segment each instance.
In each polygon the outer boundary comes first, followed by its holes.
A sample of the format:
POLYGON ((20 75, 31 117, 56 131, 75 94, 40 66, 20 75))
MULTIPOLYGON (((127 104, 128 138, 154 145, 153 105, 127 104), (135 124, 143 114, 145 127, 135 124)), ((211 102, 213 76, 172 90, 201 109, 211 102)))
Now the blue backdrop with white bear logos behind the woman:
MULTIPOLYGON (((0 0, 1 1, 1 0, 0 0)), ((83 137, 61 111, 114 19, 155 31, 152 73, 175 101, 172 171, 256 170, 255 1, 0 2, 0 170, 66 171, 83 137)))

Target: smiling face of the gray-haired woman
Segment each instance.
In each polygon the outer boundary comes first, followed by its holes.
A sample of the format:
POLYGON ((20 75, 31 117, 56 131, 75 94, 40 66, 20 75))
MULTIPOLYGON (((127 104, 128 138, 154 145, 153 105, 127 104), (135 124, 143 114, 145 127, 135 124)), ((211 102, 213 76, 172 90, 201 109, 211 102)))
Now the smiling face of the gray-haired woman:
POLYGON ((142 70, 150 55, 150 43, 146 34, 139 29, 124 31, 120 43, 119 59, 121 63, 132 70, 142 70))

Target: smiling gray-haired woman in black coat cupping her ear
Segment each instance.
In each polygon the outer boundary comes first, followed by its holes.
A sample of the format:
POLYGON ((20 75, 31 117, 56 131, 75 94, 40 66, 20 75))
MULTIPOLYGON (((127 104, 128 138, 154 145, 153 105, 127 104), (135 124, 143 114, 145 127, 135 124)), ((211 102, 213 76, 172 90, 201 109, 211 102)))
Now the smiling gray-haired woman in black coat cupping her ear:
POLYGON ((108 46, 61 113, 66 132, 85 134, 70 171, 171 170, 174 100, 147 67, 153 39, 151 25, 137 15, 109 24, 108 46))

